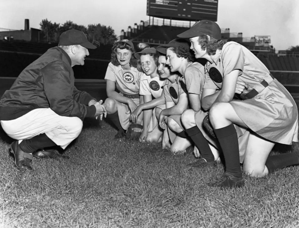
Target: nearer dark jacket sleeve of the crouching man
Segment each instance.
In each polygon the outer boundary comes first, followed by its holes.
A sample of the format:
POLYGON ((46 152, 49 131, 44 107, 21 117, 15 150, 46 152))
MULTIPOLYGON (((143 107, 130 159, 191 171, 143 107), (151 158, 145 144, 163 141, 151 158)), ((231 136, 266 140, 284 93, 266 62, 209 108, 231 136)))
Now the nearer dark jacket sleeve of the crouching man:
POLYGON ((50 108, 61 116, 85 117, 95 115, 95 106, 86 106, 77 102, 73 97, 74 85, 71 84, 70 70, 61 61, 49 63, 41 70, 44 78, 45 95, 50 108))

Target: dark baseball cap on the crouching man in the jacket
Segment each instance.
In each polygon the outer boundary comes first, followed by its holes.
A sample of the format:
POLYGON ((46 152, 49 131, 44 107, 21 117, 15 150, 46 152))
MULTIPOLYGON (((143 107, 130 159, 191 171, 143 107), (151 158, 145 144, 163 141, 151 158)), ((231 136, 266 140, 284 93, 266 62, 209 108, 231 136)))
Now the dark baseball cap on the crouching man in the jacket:
POLYGON ((88 41, 84 32, 70 29, 63 32, 59 37, 59 44, 61 46, 69 46, 69 45, 81 45, 82 47, 89 49, 96 49, 96 46, 88 41))

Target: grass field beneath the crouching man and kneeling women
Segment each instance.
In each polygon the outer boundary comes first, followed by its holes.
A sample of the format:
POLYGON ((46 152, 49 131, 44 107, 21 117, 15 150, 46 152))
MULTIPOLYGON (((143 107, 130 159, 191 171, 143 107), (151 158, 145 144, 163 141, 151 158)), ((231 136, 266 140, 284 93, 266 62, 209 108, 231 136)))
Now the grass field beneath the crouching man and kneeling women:
MULTIPOLYGON (((179 157, 150 152, 146 144, 113 140, 115 133, 86 119, 65 151, 70 159, 34 159, 34 171, 24 172, 0 129, 0 227, 299 227, 299 167, 246 176, 242 189, 221 190, 207 183, 222 175, 222 165, 189 168, 191 150, 179 157)), ((274 153, 298 149, 277 145, 274 153)))

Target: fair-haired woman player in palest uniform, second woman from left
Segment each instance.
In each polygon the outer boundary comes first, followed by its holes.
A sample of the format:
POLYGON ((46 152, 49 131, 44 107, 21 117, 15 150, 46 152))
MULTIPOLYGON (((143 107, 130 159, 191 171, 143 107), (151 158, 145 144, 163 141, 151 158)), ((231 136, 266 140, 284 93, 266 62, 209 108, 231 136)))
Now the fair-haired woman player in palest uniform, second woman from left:
MULTIPOLYGON (((154 98, 160 97, 163 91, 162 85, 164 84, 165 80, 161 79, 158 74, 158 56, 159 54, 155 48, 145 48, 141 52, 135 53, 135 58, 137 59, 137 68, 144 72, 140 78, 139 88, 139 94, 143 97, 144 103, 151 101, 152 96, 154 98)), ((165 108, 165 106, 161 108, 165 108)), ((132 115, 137 114, 135 111, 132 113, 132 115)), ((137 120, 136 118, 137 116, 133 118, 134 121, 137 120)), ((135 131, 138 131, 138 129, 135 131)), ((143 126, 141 131, 142 133, 139 137, 140 142, 149 141, 152 143, 157 143, 161 141, 163 132, 158 126, 156 110, 154 107, 153 109, 147 108, 146 110, 143 110, 143 126)))

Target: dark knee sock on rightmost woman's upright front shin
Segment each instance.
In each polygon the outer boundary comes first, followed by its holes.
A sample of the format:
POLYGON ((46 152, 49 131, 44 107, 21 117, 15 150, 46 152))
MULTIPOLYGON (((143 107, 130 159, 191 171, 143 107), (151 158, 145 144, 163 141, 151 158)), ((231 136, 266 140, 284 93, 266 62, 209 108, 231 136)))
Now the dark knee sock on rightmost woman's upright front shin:
POLYGON ((215 135, 223 151, 225 171, 236 177, 242 177, 239 156, 239 142, 236 129, 233 124, 224 128, 214 129, 215 135))

